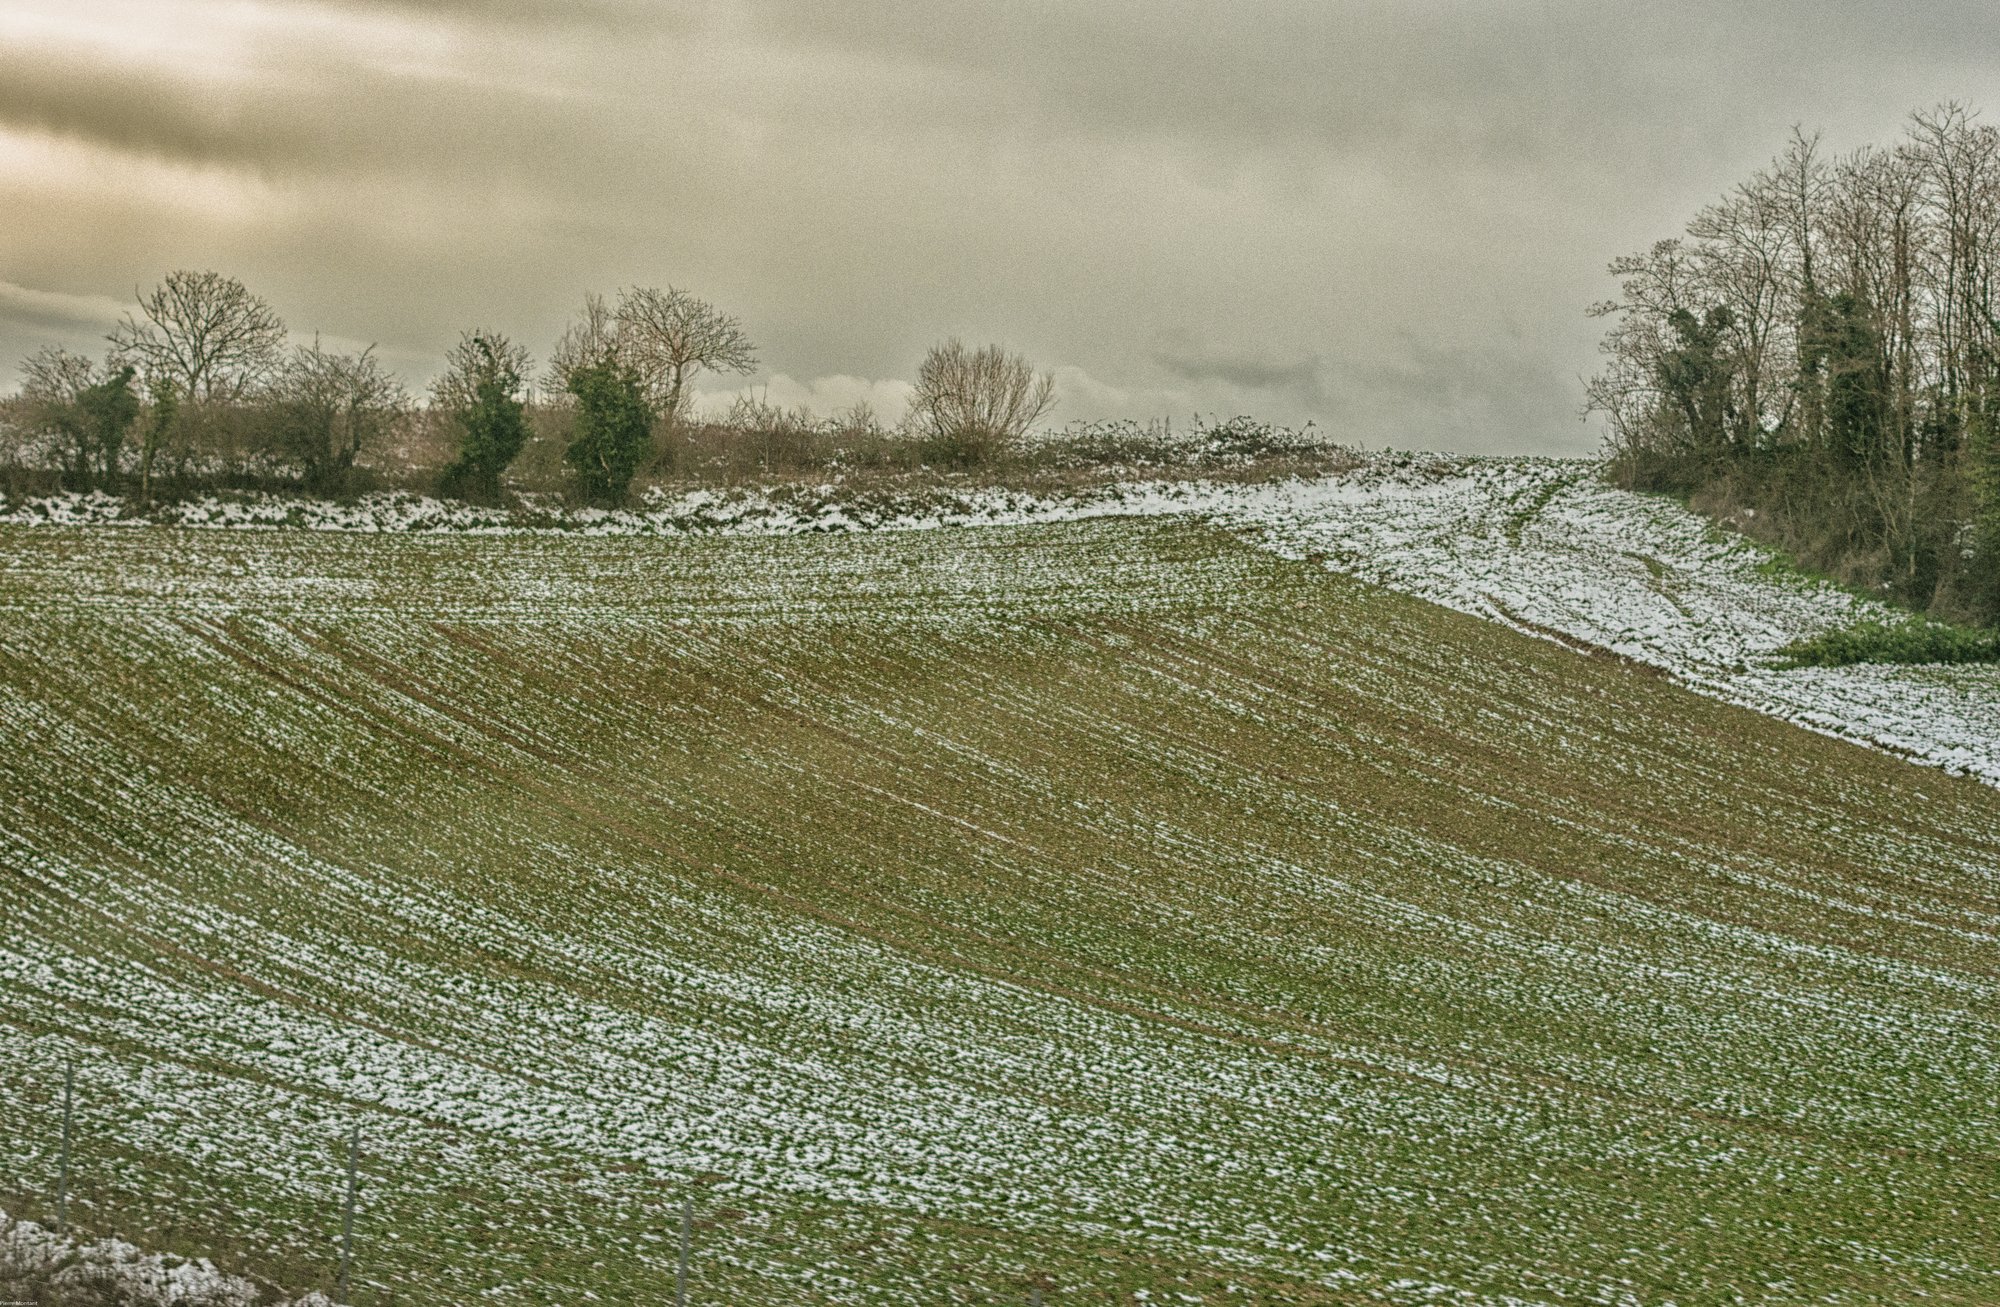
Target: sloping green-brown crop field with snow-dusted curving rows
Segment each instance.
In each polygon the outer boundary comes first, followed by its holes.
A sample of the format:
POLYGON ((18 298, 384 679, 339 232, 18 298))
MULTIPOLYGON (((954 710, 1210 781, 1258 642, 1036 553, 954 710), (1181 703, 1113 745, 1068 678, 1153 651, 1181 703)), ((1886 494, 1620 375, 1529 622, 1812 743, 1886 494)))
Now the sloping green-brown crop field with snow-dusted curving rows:
POLYGON ((362 1307, 2000 1301, 2000 791, 1190 522, 0 530, 0 1205, 362 1307))

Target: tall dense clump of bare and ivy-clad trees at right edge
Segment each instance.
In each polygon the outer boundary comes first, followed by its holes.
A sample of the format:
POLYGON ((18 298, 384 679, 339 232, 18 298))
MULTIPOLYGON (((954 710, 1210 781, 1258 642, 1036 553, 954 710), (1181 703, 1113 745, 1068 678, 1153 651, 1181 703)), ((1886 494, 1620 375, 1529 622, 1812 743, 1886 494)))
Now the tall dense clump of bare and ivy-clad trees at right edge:
POLYGON ((1624 484, 1938 616, 2000 618, 2000 130, 1786 150, 1610 266, 1590 408, 1624 484))

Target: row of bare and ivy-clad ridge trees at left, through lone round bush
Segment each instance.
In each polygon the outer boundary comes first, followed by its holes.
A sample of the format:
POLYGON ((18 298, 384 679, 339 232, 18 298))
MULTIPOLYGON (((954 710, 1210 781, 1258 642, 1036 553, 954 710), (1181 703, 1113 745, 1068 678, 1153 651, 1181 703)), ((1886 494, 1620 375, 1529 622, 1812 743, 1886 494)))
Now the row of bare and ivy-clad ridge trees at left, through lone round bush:
MULTIPOLYGON (((292 342, 242 282, 194 270, 142 294, 106 346, 102 360, 60 346, 30 356, 20 394, 0 404, 0 436, 50 464, 64 488, 128 492, 140 506, 162 480, 200 484, 202 460, 218 450, 288 468, 310 494, 346 494, 356 460, 412 420, 450 432, 438 492, 494 502, 530 416, 560 430, 576 494, 618 504, 662 436, 690 420, 690 382, 756 366, 734 316, 672 286, 628 288, 614 300, 584 296, 540 378, 526 348, 468 330, 428 394, 412 398, 372 346, 292 342)), ((908 434, 938 462, 980 462, 1052 402, 1052 378, 1018 354, 950 340, 918 370, 908 434)))

